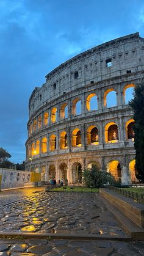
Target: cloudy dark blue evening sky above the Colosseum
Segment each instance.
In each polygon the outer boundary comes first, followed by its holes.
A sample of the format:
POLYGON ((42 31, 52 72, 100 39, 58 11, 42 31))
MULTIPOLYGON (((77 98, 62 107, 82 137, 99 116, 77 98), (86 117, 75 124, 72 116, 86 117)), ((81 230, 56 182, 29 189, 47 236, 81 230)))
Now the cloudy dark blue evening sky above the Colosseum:
POLYGON ((93 46, 140 32, 143 0, 0 0, 0 147, 25 159, 28 101, 57 65, 93 46))

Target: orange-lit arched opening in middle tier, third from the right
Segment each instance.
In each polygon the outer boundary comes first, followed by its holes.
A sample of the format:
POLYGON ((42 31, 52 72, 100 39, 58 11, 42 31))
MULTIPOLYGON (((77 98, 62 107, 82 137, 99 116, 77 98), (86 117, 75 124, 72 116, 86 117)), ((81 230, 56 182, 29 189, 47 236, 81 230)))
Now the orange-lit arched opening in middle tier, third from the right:
POLYGON ((92 125, 87 129, 87 144, 88 145, 98 145, 99 137, 98 137, 98 128, 92 125))

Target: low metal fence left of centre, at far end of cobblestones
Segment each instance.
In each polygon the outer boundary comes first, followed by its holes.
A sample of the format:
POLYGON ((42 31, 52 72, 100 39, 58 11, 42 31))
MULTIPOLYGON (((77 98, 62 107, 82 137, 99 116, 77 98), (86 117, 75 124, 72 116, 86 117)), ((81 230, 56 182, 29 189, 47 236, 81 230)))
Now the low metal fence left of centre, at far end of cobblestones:
POLYGON ((46 192, 98 192, 96 188, 87 188, 85 186, 59 186, 59 185, 47 185, 46 192))

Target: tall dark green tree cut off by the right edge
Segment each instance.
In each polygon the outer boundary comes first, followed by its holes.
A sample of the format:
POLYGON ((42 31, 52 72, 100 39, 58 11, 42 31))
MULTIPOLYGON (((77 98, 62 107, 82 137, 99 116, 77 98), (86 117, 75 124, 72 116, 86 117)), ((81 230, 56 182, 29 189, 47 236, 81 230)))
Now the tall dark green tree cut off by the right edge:
POLYGON ((134 147, 137 178, 144 182, 144 83, 134 88, 134 98, 129 101, 134 110, 134 147))

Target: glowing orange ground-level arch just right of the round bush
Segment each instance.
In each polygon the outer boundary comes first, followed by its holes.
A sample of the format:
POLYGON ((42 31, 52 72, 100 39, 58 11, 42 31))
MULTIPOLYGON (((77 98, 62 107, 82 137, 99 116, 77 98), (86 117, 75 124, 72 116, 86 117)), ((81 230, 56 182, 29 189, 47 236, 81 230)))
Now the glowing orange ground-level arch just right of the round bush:
POLYGON ((115 180, 121 182, 121 165, 117 160, 110 161, 107 164, 107 172, 110 172, 115 180))

